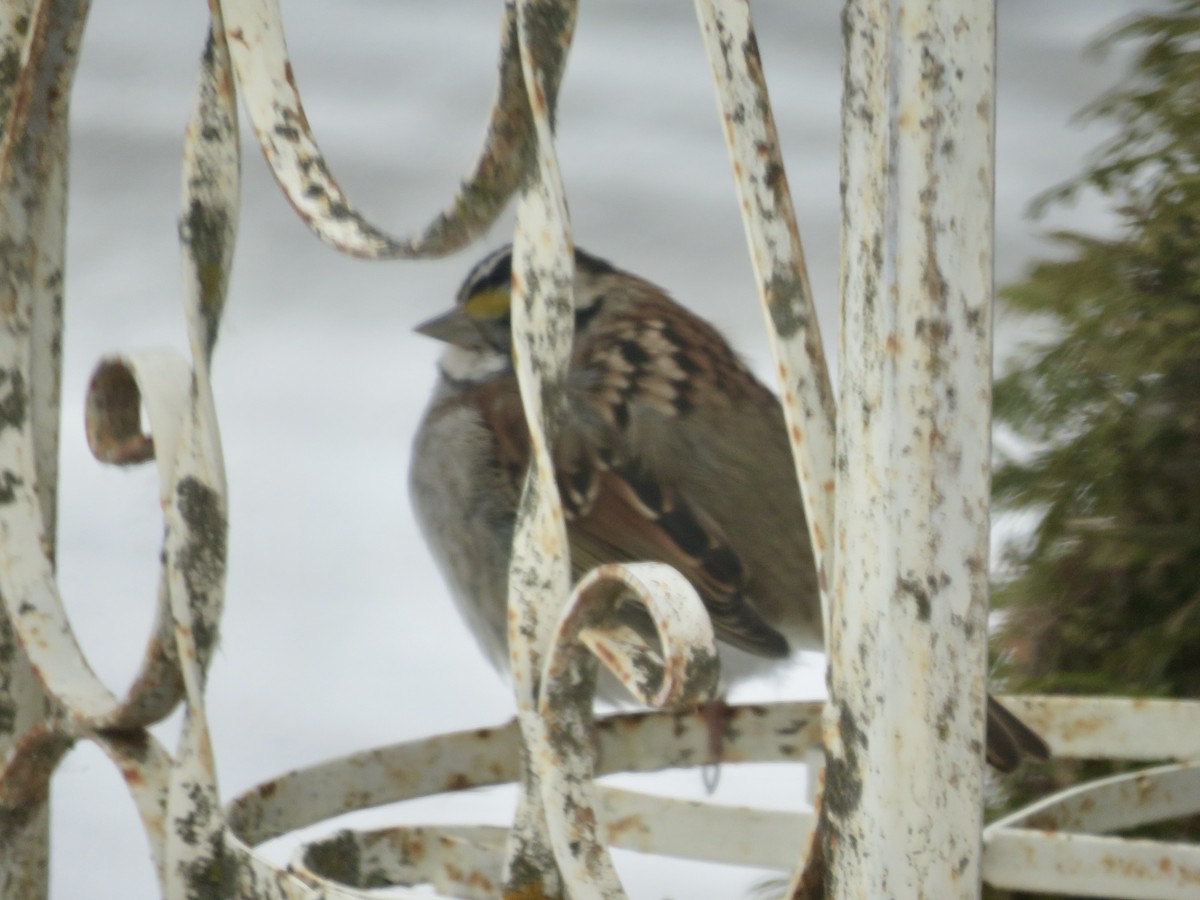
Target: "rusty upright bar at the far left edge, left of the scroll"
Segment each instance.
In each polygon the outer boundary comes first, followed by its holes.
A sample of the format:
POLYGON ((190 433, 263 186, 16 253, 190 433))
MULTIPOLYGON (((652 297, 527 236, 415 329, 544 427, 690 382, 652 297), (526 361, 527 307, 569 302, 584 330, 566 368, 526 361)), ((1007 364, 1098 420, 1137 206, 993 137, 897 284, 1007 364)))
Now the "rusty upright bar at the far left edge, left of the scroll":
MULTIPOLYGON (((0 504, 53 564, 58 504, 67 103, 88 4, 10 2, 0 12, 0 504), (30 496, 29 492, 32 492, 30 496)), ((7 540, 8 535, 0 535, 7 540)), ((0 617, 0 762, 50 706, 0 617)), ((59 749, 62 745, 59 744, 59 749)), ((56 756, 47 766, 53 768, 56 756)), ((48 770, 0 810, 0 894, 44 896, 48 770)))

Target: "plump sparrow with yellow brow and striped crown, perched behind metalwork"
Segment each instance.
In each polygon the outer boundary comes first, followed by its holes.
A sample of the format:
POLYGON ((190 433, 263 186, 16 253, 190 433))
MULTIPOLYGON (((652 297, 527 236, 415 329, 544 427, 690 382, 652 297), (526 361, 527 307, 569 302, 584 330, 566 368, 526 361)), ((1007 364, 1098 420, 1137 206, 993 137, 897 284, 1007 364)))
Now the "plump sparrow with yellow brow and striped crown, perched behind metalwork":
MULTIPOLYGON (((782 408, 712 324, 576 247, 565 420, 551 454, 572 578, 602 563, 674 566, 704 604, 728 684, 822 650, 817 568, 782 408)), ((485 654, 508 665, 508 569, 529 463, 512 360, 512 248, 472 268, 420 325, 445 344, 418 427, 409 496, 485 654)), ((638 619, 629 605, 629 622, 638 619)), ((643 613, 644 617, 644 613, 643 613)), ((988 761, 1045 743, 988 697, 988 761)))

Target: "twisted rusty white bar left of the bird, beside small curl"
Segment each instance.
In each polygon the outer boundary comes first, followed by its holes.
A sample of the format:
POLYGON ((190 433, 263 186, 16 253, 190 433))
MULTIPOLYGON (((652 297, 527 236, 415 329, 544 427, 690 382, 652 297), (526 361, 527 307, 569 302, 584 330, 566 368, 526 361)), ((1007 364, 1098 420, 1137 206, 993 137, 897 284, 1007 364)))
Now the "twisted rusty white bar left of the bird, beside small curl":
POLYGON ((216 761, 205 714, 208 665, 224 605, 228 500, 209 362, 224 310, 236 236, 240 148, 233 67, 214 7, 184 146, 180 246, 191 390, 174 452, 163 568, 186 698, 167 794, 163 893, 234 893, 216 761))

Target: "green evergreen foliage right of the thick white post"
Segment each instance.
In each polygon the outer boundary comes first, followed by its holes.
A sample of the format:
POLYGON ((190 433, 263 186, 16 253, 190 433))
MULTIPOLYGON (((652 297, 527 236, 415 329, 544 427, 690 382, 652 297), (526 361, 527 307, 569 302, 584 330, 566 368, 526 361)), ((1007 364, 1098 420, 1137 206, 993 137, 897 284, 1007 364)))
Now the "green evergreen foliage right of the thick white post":
MULTIPOLYGON (((995 388, 1025 448, 1000 461, 996 504, 1039 516, 992 593, 997 648, 1013 690, 1200 697, 1200 0, 1115 41, 1134 42, 1133 71, 1087 114, 1118 133, 1039 204, 1098 191, 1117 235, 1055 234, 1064 257, 1002 292, 1052 337, 995 388)), ((1006 803, 1112 770, 1028 767, 1006 803)))

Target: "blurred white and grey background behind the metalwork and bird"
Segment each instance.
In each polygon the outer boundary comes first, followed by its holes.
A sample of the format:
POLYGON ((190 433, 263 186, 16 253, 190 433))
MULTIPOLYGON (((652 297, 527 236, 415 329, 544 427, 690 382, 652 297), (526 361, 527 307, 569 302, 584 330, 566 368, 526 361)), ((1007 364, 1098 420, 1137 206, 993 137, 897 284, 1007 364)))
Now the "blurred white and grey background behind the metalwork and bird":
MULTIPOLYGON (((384 227, 421 226, 472 162, 493 90, 499 6, 284 4, 310 120, 343 187, 384 227)), ((754 4, 830 347, 839 7, 754 4)), ((1069 122, 1120 76, 1121 59, 1085 59, 1082 47, 1134 7, 1000 4, 1001 282, 1046 252, 1040 230, 1104 227, 1094 202, 1040 224, 1024 211, 1036 193, 1076 173, 1103 138, 1069 122)), ((73 100, 60 576, 79 640, 116 690, 149 630, 161 539, 156 476, 91 460, 82 400, 101 354, 185 347, 175 217, 205 25, 204 4, 97 0, 73 100)), ((667 287, 762 367, 761 314, 691 5, 583 4, 562 104, 576 240, 667 287)), ((406 497, 409 442, 437 354, 410 329, 451 302, 485 247, 439 262, 355 262, 306 232, 248 144, 244 188, 215 361, 232 545, 209 712, 227 797, 329 756, 499 722, 512 709, 506 685, 458 622, 406 497)), ((488 246, 506 240, 508 221, 488 246)), ((802 667, 734 698, 811 695, 820 683, 815 666, 802 667)), ((162 733, 173 745, 170 728, 162 733)), ((698 775, 655 785, 695 793, 698 775)), ((720 794, 797 804, 802 797, 797 769, 732 775, 720 794)), ((499 822, 505 803, 503 794, 438 798, 386 817, 499 822)), ((157 895, 132 804, 94 749, 82 746, 64 763, 54 818, 54 898, 157 895)), ((623 865, 635 898, 737 896, 756 877, 632 854, 623 865)))

